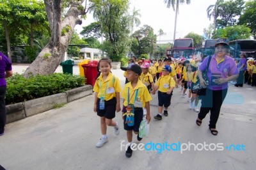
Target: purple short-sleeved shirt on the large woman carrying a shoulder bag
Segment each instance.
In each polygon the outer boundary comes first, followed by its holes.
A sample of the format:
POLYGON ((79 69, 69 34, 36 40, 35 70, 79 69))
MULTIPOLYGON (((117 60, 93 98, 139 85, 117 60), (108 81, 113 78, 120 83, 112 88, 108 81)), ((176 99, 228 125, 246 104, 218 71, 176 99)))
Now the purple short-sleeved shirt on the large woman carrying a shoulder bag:
MULTIPOLYGON (((205 58, 202 64, 199 66, 200 71, 203 72, 204 70, 206 70, 208 60, 209 60, 209 56, 207 56, 207 58, 205 58)), ((229 56, 225 56, 224 61, 222 61, 217 65, 216 55, 214 54, 212 55, 212 58, 209 64, 209 69, 207 72, 207 76, 209 79, 209 86, 207 86, 207 88, 212 90, 227 89, 228 82, 223 84, 216 84, 214 83, 214 80, 220 79, 220 78, 225 79, 230 75, 236 75, 238 73, 239 72, 233 58, 230 58, 229 56)))

